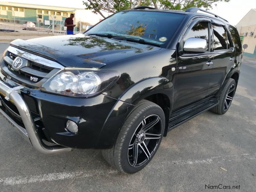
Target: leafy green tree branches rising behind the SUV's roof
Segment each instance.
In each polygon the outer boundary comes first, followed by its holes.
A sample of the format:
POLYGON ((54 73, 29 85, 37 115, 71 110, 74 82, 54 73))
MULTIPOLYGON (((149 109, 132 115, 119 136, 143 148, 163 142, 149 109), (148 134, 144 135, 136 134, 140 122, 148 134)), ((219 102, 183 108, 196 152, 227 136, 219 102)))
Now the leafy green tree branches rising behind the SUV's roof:
POLYGON ((186 10, 190 7, 203 7, 208 10, 212 8, 213 3, 220 1, 229 2, 230 0, 86 0, 83 3, 86 10, 92 10, 106 18, 104 12, 115 13, 141 5, 156 9, 186 10))

